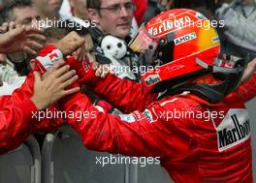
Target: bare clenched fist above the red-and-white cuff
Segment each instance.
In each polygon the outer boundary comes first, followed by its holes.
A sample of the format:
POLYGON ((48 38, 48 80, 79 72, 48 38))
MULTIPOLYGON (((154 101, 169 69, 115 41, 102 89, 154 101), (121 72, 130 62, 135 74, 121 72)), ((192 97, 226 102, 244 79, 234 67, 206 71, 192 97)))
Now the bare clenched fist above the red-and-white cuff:
POLYGON ((75 31, 69 33, 58 41, 55 46, 60 49, 63 55, 67 56, 84 45, 84 38, 80 37, 75 31))

